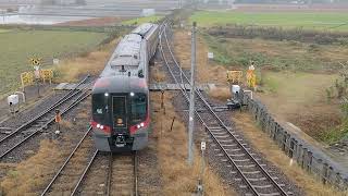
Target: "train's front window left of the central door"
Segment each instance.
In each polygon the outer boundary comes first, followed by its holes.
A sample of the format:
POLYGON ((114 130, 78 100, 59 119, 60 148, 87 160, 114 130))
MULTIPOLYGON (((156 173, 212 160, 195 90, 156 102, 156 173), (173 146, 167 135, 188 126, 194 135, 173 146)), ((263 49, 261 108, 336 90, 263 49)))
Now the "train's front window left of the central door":
POLYGON ((108 112, 108 99, 104 94, 92 95, 92 115, 94 120, 104 124, 105 114, 108 112))

